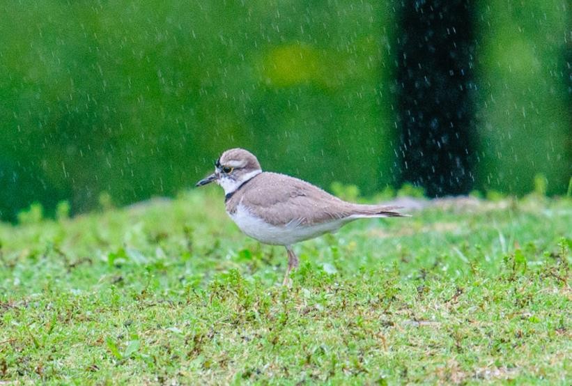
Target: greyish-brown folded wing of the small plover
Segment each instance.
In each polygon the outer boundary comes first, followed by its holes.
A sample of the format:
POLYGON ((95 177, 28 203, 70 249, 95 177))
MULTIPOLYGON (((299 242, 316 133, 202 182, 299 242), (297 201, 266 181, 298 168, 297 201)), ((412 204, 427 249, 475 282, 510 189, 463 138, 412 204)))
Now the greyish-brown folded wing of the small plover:
MULTIPOLYGON (((240 191, 239 191, 240 192, 240 191)), ((346 203, 319 187, 284 174, 264 172, 249 182, 235 202, 249 206, 253 215, 277 225, 319 224, 353 214, 346 203)))

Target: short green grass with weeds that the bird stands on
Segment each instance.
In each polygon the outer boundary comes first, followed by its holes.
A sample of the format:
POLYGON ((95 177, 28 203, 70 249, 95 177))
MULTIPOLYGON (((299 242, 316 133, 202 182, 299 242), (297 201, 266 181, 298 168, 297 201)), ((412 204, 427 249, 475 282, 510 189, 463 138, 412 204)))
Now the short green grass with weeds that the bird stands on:
POLYGON ((0 384, 572 382, 566 199, 354 222, 291 288, 215 189, 40 217, 0 224, 0 384))

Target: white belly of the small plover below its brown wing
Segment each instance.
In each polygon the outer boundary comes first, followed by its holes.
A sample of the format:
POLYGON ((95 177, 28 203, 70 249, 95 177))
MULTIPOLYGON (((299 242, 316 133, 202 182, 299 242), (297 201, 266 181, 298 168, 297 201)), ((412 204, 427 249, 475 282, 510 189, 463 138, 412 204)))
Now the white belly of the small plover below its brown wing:
POLYGON ((293 222, 284 226, 275 226, 253 216, 242 204, 238 204, 235 213, 229 213, 229 216, 242 232, 260 242, 272 245, 293 245, 295 242, 337 231, 340 226, 348 222, 347 219, 337 219, 314 225, 300 225, 293 222))

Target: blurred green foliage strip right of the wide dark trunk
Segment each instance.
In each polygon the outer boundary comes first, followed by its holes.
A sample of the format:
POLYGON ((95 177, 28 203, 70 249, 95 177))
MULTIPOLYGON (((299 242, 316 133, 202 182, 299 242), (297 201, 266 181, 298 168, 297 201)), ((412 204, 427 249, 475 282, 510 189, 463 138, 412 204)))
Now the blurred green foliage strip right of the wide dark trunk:
POLYGON ((572 177, 570 5, 560 0, 480 1, 479 185, 528 192, 534 176, 548 192, 572 177), (568 47, 566 47, 568 45, 568 47))

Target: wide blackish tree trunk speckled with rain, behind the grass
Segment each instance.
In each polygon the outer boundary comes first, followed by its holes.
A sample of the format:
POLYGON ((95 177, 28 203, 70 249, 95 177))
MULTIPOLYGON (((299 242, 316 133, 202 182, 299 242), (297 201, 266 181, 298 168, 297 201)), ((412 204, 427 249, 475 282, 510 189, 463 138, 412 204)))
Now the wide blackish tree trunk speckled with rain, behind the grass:
POLYGON ((402 180, 428 196, 466 193, 474 181, 470 1, 403 0, 398 11, 402 180))

